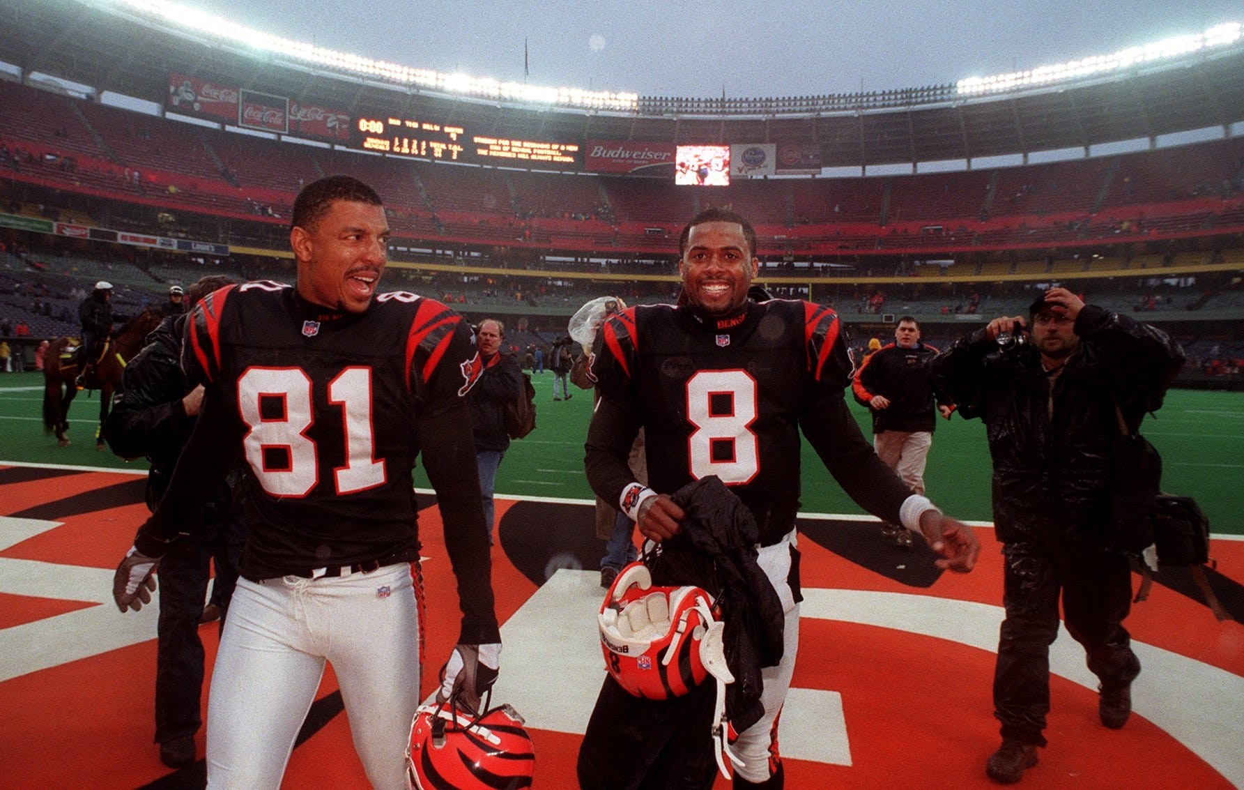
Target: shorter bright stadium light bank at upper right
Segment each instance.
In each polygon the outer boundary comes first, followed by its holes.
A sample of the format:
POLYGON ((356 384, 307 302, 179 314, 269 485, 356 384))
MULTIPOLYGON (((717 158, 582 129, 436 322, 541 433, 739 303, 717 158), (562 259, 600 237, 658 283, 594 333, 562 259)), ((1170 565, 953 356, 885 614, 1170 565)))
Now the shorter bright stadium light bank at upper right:
POLYGON ((1076 80, 1102 75, 1128 66, 1179 57, 1209 47, 1235 44, 1240 39, 1240 24, 1227 22, 1209 27, 1203 34, 1172 36, 1153 44, 1120 50, 1113 55, 1095 55, 1082 60, 1039 66, 1028 71, 1014 71, 991 77, 969 77, 955 83, 959 93, 980 95, 1039 87, 1064 80, 1076 80))

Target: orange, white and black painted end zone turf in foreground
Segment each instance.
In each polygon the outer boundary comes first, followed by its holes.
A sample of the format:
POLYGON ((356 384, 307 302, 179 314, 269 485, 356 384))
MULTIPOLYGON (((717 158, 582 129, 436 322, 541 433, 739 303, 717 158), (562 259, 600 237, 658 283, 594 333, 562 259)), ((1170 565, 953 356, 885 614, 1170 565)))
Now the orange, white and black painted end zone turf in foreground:
MULTIPOLYGON (((111 581, 112 570, 102 567, 98 559, 78 557, 66 546, 77 544, 75 536, 88 523, 92 530, 107 529, 114 532, 118 545, 121 540, 129 540, 132 526, 122 525, 121 521, 97 519, 93 515, 106 514, 123 504, 117 499, 119 496, 117 485, 112 479, 92 483, 98 486, 93 490, 98 491, 100 499, 83 509, 82 496, 76 493, 71 495, 71 491, 76 491, 72 484, 31 486, 24 480, 39 473, 21 472, 24 474, 7 480, 7 485, 0 483, 0 494, 4 494, 0 499, 10 503, 7 514, 10 519, 0 519, 0 550, 6 555, 0 557, 0 582, 7 585, 4 586, 6 593, 15 597, 31 596, 34 603, 29 606, 34 607, 30 611, 35 615, 31 615, 31 622, 11 626, 21 631, 7 631, 10 637, 20 633, 21 639, 0 639, 0 676, 4 681, 9 681, 45 672, 47 683, 81 683, 83 677, 91 678, 93 672, 85 671, 85 667, 106 664, 109 668, 132 668, 128 663, 132 654, 127 656, 122 648, 154 639, 154 611, 147 615, 144 607, 143 612, 127 615, 132 618, 147 616, 149 626, 149 628, 127 630, 118 627, 121 616, 112 607, 88 606, 47 616, 41 613, 36 600, 63 597, 75 606, 81 605, 83 595, 81 590, 65 590, 67 574, 86 572, 87 581, 93 579, 91 583, 101 588, 111 581), (107 493, 107 496, 103 493, 107 493), (40 518, 34 516, 35 508, 42 511, 40 518), (44 518, 55 520, 44 521, 44 518), (60 542, 53 546, 50 539, 57 531, 62 535, 60 542), (73 565, 62 565, 63 562, 73 565), (35 572, 34 582, 26 575, 27 570, 35 572), (57 590, 62 592, 55 592, 57 590), (73 627, 66 627, 71 623, 73 627), (27 636, 31 637, 31 642, 39 644, 39 649, 24 649, 20 642, 26 641, 27 636), (80 661, 83 658, 91 661, 80 661)), ((66 478, 61 470, 46 472, 49 480, 66 478), (53 474, 58 478, 53 478, 53 474)), ((68 476, 68 480, 73 478, 68 476)), ((133 483, 134 485, 124 490, 129 498, 126 501, 133 503, 133 518, 141 518, 142 481, 134 479, 133 483)), ((581 531, 580 521, 591 523, 590 515, 578 520, 547 518, 555 506, 564 508, 567 513, 577 509, 590 514, 592 510, 590 501, 573 505, 521 501, 513 504, 514 508, 506 516, 499 519, 504 523, 498 525, 499 534, 505 529, 530 530, 536 523, 535 518, 539 518, 541 525, 545 525, 546 520, 565 521, 565 532, 554 531, 541 536, 541 545, 551 544, 550 551, 562 550, 564 535, 581 531), (532 510, 524 513, 521 510, 524 506, 532 510), (527 518, 522 519, 524 515, 527 518), (514 523, 515 518, 520 520, 514 523)), ((825 531, 837 535, 851 524, 853 523, 835 524, 832 530, 825 531)), ((863 525, 860 526, 862 530, 863 525)), ((871 535, 872 525, 867 526, 871 535)), ((444 557, 439 530, 429 532, 438 535, 428 536, 430 545, 427 554, 444 557)), ((991 532, 990 529, 982 529, 980 537, 995 547, 991 532)), ((846 567, 843 564, 851 564, 850 557, 832 549, 822 550, 827 549, 824 544, 817 544, 821 549, 815 549, 811 544, 816 544, 816 536, 817 531, 811 529, 800 535, 800 547, 805 551, 802 560, 805 602, 801 607, 800 643, 801 653, 805 654, 800 658, 802 676, 792 684, 787 707, 782 713, 781 732, 782 756, 801 760, 804 776, 815 776, 800 786, 898 786, 891 779, 893 766, 897 764, 906 768, 904 760, 906 763, 916 759, 928 760, 927 754, 932 753, 922 750, 928 745, 922 740, 923 730, 909 727, 909 722, 913 724, 931 722, 942 727, 965 724, 973 733, 978 733, 979 743, 965 739, 967 748, 963 753, 935 758, 933 766, 954 776, 968 778, 962 781, 963 786, 988 786, 983 763, 989 751, 996 746, 996 725, 989 715, 988 685, 993 666, 991 651, 996 646, 998 622, 1001 618, 999 607, 1001 570, 996 561, 990 569, 986 557, 998 556, 996 552, 983 551, 977 571, 955 579, 955 587, 959 588, 957 593, 952 592, 948 596, 950 591, 938 582, 927 592, 909 595, 912 588, 892 586, 893 581, 882 577, 870 577, 871 581, 866 585, 870 588, 852 588, 850 579, 843 579, 842 572, 846 567), (804 546, 805 541, 807 546, 804 546), (887 586, 888 590, 871 588, 878 585, 887 586), (841 649, 841 638, 858 639, 861 633, 875 634, 877 639, 855 656, 847 654, 850 651, 841 649), (902 644, 896 644, 898 642, 902 644), (819 652, 832 654, 831 673, 809 672, 819 652), (903 677, 903 672, 909 677, 902 683, 896 683, 893 678, 887 682, 871 681, 878 656, 884 656, 892 662, 894 677, 903 677), (962 661, 972 662, 975 668, 960 679, 963 687, 957 688, 952 681, 945 694, 931 694, 922 683, 929 672, 931 659, 937 661, 933 664, 934 669, 937 666, 947 666, 958 672, 962 661), (917 663, 923 666, 919 669, 912 668, 917 663), (848 674, 855 679, 848 684, 852 690, 842 692, 840 695, 836 689, 842 687, 848 674), (903 689, 911 689, 911 693, 904 693, 903 689), (970 704, 957 707, 954 704, 957 693, 972 695, 970 704), (880 709, 873 709, 873 703, 880 709), (947 718, 948 712, 962 718, 947 718), (889 717, 887 719, 892 724, 889 732, 877 732, 878 717, 889 717), (804 730, 810 732, 812 737, 801 738, 804 730), (922 749, 913 750, 917 756, 896 755, 892 753, 894 738, 916 739, 922 749), (875 758, 882 751, 887 751, 883 761, 886 765, 878 766, 878 760, 875 758), (815 773, 821 770, 821 765, 832 768, 826 769, 826 773, 815 773)), ((595 554, 596 544, 591 544, 590 549, 593 551, 590 559, 595 561, 598 556, 595 554)), ((1215 550, 1222 552, 1220 561, 1225 567, 1244 567, 1242 549, 1244 541, 1215 540, 1215 550)), ((536 544, 527 550, 536 550, 536 544)), ((511 559, 511 552, 504 549, 503 541, 503 550, 494 555, 494 562, 514 572, 506 565, 511 559)), ((542 559, 540 564, 542 565, 542 559)), ((1232 572, 1238 579, 1238 572, 1232 572)), ((1235 579, 1218 581, 1238 585, 1235 579)), ((527 727, 539 730, 537 738, 544 737, 545 730, 555 733, 559 739, 581 735, 597 698, 603 673, 582 672, 585 666, 598 667, 601 663, 600 646, 595 638, 601 600, 596 582, 595 570, 557 571, 552 580, 536 586, 531 592, 514 585, 498 587, 499 600, 506 600, 509 596, 501 608, 514 611, 503 623, 509 643, 508 661, 511 672, 508 677, 503 673, 498 693, 524 713, 527 727), (549 651, 549 612, 559 612, 559 617, 578 617, 582 622, 575 626, 573 633, 582 636, 571 639, 565 649, 549 651), (547 685, 532 682, 532 678, 541 676, 552 678, 550 683, 559 692, 557 704, 550 704, 547 685), (571 708, 575 710, 573 720, 569 724, 567 700, 572 703, 571 708)), ((377 590, 377 595, 379 592, 377 590)), ((93 600, 96 596, 91 595, 93 600)), ((102 601, 106 596, 107 591, 101 592, 98 598, 102 601)), ((14 606, 21 607, 22 603, 19 601, 14 606)), ((1133 631, 1132 644, 1141 654, 1143 671, 1135 687, 1136 713, 1121 732, 1107 732, 1101 727, 1096 712, 1096 678, 1084 666, 1084 649, 1075 643, 1066 644, 1069 637, 1065 632, 1060 634, 1059 642, 1051 651, 1051 671, 1060 678, 1059 687, 1054 689, 1055 715, 1060 717, 1059 727, 1076 728, 1088 740, 1075 744, 1070 737, 1060 738, 1054 748, 1042 751, 1041 764, 1034 769, 1030 781, 1044 786, 1059 786, 1057 779, 1051 774, 1054 770, 1084 770, 1086 781, 1082 784, 1088 790, 1105 790, 1127 784, 1172 789, 1244 788, 1244 763, 1239 759, 1238 746, 1230 746, 1232 743, 1242 743, 1240 737, 1244 734, 1244 720, 1238 715, 1242 699, 1238 678, 1244 677, 1238 652, 1242 631, 1238 622, 1215 623, 1207 610, 1188 608, 1189 606, 1184 597, 1158 587, 1149 601, 1133 610, 1127 625, 1133 631), (1154 611, 1144 607, 1158 608, 1154 611), (1186 630, 1189 618, 1193 621, 1191 625, 1195 627, 1186 630), (1174 626, 1173 633, 1166 627, 1168 622, 1174 626), (1067 649, 1061 651, 1060 643, 1067 649), (1227 648, 1219 649, 1213 647, 1214 644, 1227 644, 1227 648), (1182 654, 1186 651, 1192 652, 1182 654), (1200 653, 1205 653, 1210 661, 1204 662, 1192 657, 1200 653)), ((452 643, 453 638, 454 634, 449 634, 443 641, 452 643)), ((648 664, 652 667, 659 661, 657 657, 648 664)), ((638 667, 638 659, 636 666, 638 667)), ((142 668, 151 677, 154 676, 154 662, 151 667, 144 664, 142 668)), ((21 704, 29 705, 31 682, 34 681, 7 684, 9 709, 19 709, 21 704)), ((4 688, 5 683, 0 681, 0 689, 4 688)), ((143 693, 149 694, 149 688, 144 685, 143 693)), ((5 698, 0 694, 0 703, 2 702, 5 698)), ((70 699, 67 704, 73 713, 73 700, 70 699)), ((88 709, 91 704, 93 703, 83 702, 81 707, 88 709)), ((10 724, 9 729, 2 729, 0 725, 0 733, 5 735, 6 743, 20 744, 22 738, 27 741, 32 738, 55 740, 66 729, 63 718, 51 718, 51 714, 37 709, 37 705, 35 708, 30 713, 30 722, 21 727, 10 724)), ((139 722, 137 725, 149 725, 149 709, 147 710, 146 715, 141 710, 132 712, 133 720, 139 722)), ((336 720, 341 723, 341 719, 336 720)), ((310 758, 304 755, 304 761, 311 759, 318 763, 327 754, 348 751, 352 745, 347 728, 338 729, 340 732, 321 730, 316 739, 300 745, 297 749, 304 753, 311 750, 310 758), (325 751, 315 751, 317 741, 325 751)), ((95 740, 92 745, 108 751, 116 749, 117 756, 129 758, 131 753, 123 751, 127 748, 121 743, 123 740, 118 738, 116 743, 111 743, 101 739, 95 740)), ((570 743, 573 746, 576 741, 570 743)), ((154 765, 149 743, 134 746, 132 754, 141 755, 154 765)), ((83 778, 83 773, 86 775, 86 781, 78 784, 138 786, 151 780, 151 775, 142 773, 146 769, 141 769, 137 775, 127 775, 128 781, 122 781, 117 774, 109 774, 104 766, 91 763, 86 761, 72 769, 78 780, 83 778)), ((26 770, 12 755, 6 754, 0 754, 0 768, 26 770), (9 759, 5 760, 5 756, 9 759)), ((36 786, 34 783, 22 784, 25 776, 12 770, 5 775, 17 776, 6 779, 14 788, 36 786)), ((37 786, 71 784, 73 779, 68 776, 51 776, 37 786)), ((945 781, 943 784, 948 785, 945 781)), ((537 786, 569 790, 573 784, 572 780, 567 780, 537 783, 537 786)), ((929 786, 943 785, 931 783, 929 786)))

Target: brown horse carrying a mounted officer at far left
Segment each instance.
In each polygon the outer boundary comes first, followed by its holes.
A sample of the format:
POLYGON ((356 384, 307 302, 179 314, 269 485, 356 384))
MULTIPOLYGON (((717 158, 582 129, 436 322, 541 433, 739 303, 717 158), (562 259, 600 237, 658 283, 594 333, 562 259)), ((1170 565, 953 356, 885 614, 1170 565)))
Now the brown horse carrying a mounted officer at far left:
MULTIPOLYGON (((104 448, 101 429, 112 408, 112 393, 121 388, 121 373, 126 369, 126 362, 142 350, 143 338, 156 328, 162 317, 159 311, 148 307, 127 321, 102 343, 103 356, 86 377, 86 389, 100 391, 100 428, 95 432, 95 445, 101 450, 104 448)), ((47 356, 44 357, 44 430, 55 433, 61 447, 70 443, 70 404, 77 396, 75 379, 78 366, 85 362, 77 360, 70 350, 75 345, 73 338, 58 337, 49 346, 47 356)))

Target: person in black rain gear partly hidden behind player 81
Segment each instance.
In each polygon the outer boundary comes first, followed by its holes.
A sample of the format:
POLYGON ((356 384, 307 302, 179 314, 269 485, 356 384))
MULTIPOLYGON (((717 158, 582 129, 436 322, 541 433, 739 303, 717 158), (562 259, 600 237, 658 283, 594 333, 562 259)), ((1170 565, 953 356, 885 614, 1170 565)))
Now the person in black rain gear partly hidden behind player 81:
MULTIPOLYGON (((229 285, 220 275, 203 277, 190 287, 192 305, 229 285)), ((164 495, 173 467, 190 438, 203 386, 193 389, 182 372, 182 337, 187 317, 165 316, 149 335, 151 342, 126 366, 122 392, 103 425, 103 438, 122 458, 146 457, 147 506, 164 495)), ((199 623, 224 617, 238 583, 238 560, 245 529, 235 495, 240 472, 198 513, 187 514, 188 534, 169 545, 159 566, 159 620, 156 626, 156 743, 169 768, 194 763, 194 734, 203 725, 203 642, 199 623), (199 524, 202 529, 193 529, 199 524), (209 562, 215 560, 211 603, 204 608, 209 562)))

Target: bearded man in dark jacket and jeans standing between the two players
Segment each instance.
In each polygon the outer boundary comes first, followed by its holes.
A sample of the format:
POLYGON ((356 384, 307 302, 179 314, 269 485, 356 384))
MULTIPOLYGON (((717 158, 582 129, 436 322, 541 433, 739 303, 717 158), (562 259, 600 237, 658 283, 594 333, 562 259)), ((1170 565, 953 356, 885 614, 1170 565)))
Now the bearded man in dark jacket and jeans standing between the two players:
POLYGON ((521 393, 522 371, 513 353, 501 351, 505 325, 496 318, 484 318, 475 332, 475 343, 484 372, 468 393, 471 425, 475 432, 475 464, 479 467, 479 494, 484 500, 484 525, 488 542, 493 544, 493 489, 496 470, 510 449, 510 435, 505 430, 505 404, 513 403, 521 393))

